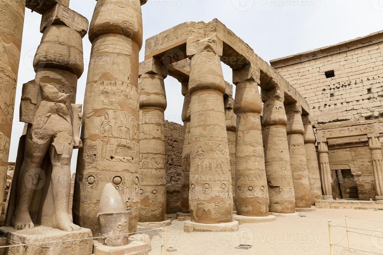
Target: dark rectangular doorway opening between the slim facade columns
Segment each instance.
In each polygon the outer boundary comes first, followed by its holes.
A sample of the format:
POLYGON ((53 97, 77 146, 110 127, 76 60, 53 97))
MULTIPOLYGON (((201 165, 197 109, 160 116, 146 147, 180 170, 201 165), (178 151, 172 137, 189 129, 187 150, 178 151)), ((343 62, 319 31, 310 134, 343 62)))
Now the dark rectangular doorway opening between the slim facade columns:
POLYGON ((358 200, 358 186, 351 169, 332 170, 334 198, 358 200))

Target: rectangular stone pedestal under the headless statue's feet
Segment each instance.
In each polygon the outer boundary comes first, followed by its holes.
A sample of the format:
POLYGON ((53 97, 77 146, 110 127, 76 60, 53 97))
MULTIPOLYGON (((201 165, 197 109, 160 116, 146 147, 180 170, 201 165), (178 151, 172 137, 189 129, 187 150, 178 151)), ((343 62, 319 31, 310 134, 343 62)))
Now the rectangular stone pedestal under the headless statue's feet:
MULTIPOLYGON (((79 231, 65 232, 51 227, 35 226, 33 229, 15 230, 13 227, 0 227, 0 233, 8 238, 7 245, 33 244, 82 238, 92 238, 90 229, 81 228, 79 231)), ((36 254, 92 254, 93 239, 55 242, 50 244, 34 244, 16 246, 5 249, 5 254, 36 255, 36 254)))

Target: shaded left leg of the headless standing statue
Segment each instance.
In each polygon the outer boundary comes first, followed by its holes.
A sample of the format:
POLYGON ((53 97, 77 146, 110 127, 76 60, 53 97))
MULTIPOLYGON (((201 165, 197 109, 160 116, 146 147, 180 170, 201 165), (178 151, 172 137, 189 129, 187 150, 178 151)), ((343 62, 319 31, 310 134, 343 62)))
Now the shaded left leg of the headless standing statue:
MULTIPOLYGON (((44 138, 44 136, 41 138, 44 138)), ((31 205, 34 190, 38 188, 42 173, 41 163, 51 141, 51 138, 45 138, 42 140, 39 136, 36 136, 33 125, 29 124, 25 138, 24 161, 17 184, 16 210, 11 222, 15 229, 34 227, 31 216, 29 216, 29 206, 31 205)))

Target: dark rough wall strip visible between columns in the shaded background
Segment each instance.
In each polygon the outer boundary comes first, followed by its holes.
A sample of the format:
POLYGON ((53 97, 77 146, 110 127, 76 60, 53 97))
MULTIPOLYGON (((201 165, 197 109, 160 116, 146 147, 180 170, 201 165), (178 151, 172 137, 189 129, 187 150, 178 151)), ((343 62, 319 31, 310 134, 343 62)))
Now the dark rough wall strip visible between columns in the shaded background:
POLYGON ((183 126, 165 120, 166 213, 181 211, 183 126))

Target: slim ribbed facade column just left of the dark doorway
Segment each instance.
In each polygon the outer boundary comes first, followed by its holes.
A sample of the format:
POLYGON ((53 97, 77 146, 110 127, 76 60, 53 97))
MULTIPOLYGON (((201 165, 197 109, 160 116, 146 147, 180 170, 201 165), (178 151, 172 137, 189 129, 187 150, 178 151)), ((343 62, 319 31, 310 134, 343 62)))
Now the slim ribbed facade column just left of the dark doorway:
POLYGON ((321 177, 322 177, 322 188, 323 188, 323 199, 334 200, 332 197, 332 178, 329 163, 329 148, 327 147, 327 138, 318 138, 318 153, 319 153, 319 164, 321 165, 321 177))

